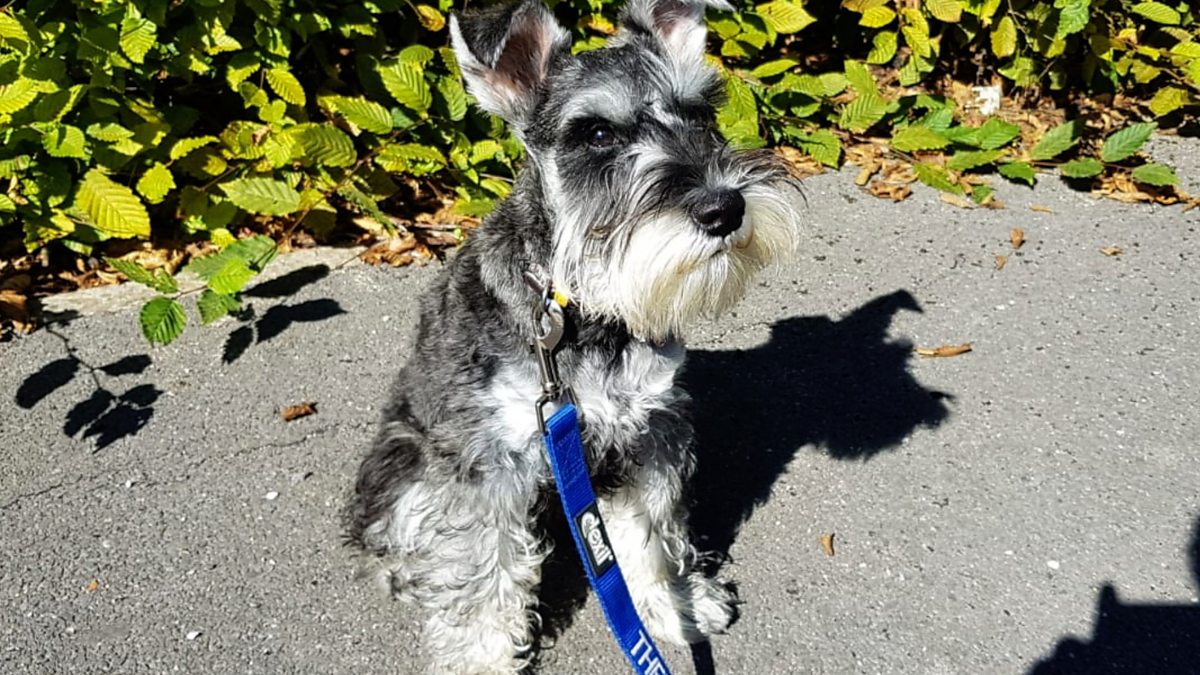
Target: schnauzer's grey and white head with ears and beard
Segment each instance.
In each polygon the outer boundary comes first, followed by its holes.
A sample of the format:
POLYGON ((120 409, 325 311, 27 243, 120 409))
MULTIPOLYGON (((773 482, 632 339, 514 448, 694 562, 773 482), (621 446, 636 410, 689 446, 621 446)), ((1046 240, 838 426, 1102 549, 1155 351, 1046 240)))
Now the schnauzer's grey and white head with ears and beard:
POLYGON ((664 340, 731 306, 793 249, 794 181, 716 130, 724 83, 704 58, 700 0, 630 0, 608 44, 578 55, 535 0, 450 30, 469 90, 528 149, 554 283, 584 312, 664 340))

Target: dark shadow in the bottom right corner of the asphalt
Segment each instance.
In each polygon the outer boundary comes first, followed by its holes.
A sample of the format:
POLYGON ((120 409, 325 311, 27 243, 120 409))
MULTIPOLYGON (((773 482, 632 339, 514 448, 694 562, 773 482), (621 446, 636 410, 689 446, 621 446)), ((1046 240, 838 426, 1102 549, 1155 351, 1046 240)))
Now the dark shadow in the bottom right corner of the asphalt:
MULTIPOLYGON (((1200 591, 1200 519, 1188 551, 1200 591)), ((1112 584, 1096 598, 1091 641, 1069 637, 1030 675, 1186 675, 1200 673, 1200 603, 1123 603, 1112 584)))

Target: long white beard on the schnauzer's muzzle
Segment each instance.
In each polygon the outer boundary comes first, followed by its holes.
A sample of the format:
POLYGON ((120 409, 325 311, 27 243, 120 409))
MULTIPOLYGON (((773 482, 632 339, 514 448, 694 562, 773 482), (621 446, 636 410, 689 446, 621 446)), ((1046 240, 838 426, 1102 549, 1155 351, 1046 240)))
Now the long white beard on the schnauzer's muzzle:
MULTIPOLYGON (((685 214, 668 213, 634 223, 625 247, 607 262, 556 264, 562 273, 556 282, 580 295, 584 312, 620 318, 641 339, 680 336, 694 319, 733 306, 755 273, 796 247, 793 195, 769 184, 750 185, 742 195, 745 220, 724 239, 704 234, 685 214)), ((556 253, 571 249, 583 246, 556 253)))

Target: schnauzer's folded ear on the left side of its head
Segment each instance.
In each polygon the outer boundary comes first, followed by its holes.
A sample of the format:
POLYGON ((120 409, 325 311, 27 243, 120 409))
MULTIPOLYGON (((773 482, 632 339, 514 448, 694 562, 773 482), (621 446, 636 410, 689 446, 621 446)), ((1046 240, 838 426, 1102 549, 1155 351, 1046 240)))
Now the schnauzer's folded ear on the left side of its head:
POLYGON ((450 17, 450 42, 467 89, 485 110, 523 127, 551 60, 570 34, 538 1, 450 17))

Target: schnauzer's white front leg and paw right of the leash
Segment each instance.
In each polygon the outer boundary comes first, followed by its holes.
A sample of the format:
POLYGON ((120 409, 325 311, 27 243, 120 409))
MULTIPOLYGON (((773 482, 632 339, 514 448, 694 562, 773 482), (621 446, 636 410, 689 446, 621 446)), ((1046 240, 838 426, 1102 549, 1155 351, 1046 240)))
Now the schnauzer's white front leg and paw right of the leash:
POLYGON ((600 514, 642 620, 656 638, 682 645, 724 632, 737 598, 696 568, 680 492, 676 465, 652 458, 600 498, 600 514))

